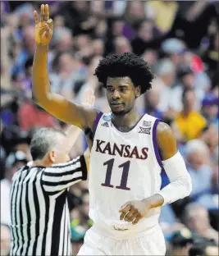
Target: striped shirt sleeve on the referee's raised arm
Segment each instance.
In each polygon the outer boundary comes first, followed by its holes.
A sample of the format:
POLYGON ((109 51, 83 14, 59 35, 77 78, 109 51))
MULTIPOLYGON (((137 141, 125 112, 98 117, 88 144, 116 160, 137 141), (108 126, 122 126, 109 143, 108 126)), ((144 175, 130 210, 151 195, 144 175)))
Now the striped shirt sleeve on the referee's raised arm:
POLYGON ((85 180, 87 180, 87 165, 84 155, 70 162, 46 167, 42 174, 43 189, 48 193, 57 193, 85 180))

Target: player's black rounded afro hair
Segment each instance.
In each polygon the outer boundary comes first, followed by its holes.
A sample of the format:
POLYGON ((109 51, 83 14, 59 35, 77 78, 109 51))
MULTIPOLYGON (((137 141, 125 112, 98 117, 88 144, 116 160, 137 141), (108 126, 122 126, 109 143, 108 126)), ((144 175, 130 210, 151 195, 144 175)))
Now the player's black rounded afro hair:
POLYGON ((108 55, 99 62, 94 75, 103 87, 107 85, 107 77, 129 76, 135 86, 141 86, 141 94, 151 89, 154 78, 148 63, 134 53, 108 55))

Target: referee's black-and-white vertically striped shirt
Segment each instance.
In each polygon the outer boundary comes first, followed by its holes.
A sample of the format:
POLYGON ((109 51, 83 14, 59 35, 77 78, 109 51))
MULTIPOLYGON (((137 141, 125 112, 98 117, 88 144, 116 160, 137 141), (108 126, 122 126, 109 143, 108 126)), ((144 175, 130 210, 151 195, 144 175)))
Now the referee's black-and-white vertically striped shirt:
POLYGON ((21 167, 11 182, 10 255, 70 255, 66 194, 86 179, 84 156, 52 167, 21 167))

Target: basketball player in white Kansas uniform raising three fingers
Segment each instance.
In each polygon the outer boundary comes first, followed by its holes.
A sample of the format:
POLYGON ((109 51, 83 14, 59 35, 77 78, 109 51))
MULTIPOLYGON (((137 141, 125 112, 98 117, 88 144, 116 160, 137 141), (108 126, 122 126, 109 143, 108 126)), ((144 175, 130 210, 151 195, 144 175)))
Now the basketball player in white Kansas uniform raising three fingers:
POLYGON ((40 20, 34 11, 34 19, 35 101, 54 117, 84 130, 91 149, 89 217, 94 226, 79 255, 165 255, 158 224, 161 206, 188 196, 191 180, 171 128, 137 112, 136 98, 151 88, 153 80, 147 63, 133 53, 99 62, 95 75, 107 89, 111 113, 72 103, 50 90, 48 5, 41 6, 40 20), (171 183, 160 190, 162 167, 171 183))

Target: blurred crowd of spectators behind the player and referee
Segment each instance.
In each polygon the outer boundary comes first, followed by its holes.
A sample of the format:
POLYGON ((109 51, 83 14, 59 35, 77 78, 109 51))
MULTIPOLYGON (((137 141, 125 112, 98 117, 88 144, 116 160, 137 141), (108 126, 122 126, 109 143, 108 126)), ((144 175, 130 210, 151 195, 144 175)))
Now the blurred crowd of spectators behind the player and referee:
MULTIPOLYGON (((218 245, 219 2, 3 1, 1 255, 7 255, 10 246, 11 176, 31 160, 29 144, 34 128, 66 128, 31 99, 33 11, 39 11, 42 3, 49 4, 54 22, 48 54, 54 92, 80 103, 84 89, 93 88, 95 107, 108 112, 105 91, 93 75, 98 61, 109 53, 133 52, 151 66, 156 79, 153 89, 139 98, 139 111, 172 127, 193 182, 188 198, 162 208, 160 222, 167 255, 188 255, 195 237, 218 245)), ((85 148, 81 135, 71 156, 78 156, 85 148)), ((162 172, 162 186, 168 182, 162 172)), ((75 255, 84 232, 92 226, 87 182, 71 187, 69 203, 75 255)))

